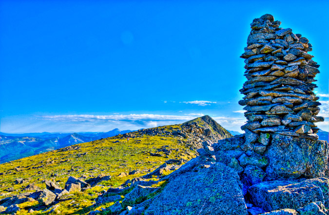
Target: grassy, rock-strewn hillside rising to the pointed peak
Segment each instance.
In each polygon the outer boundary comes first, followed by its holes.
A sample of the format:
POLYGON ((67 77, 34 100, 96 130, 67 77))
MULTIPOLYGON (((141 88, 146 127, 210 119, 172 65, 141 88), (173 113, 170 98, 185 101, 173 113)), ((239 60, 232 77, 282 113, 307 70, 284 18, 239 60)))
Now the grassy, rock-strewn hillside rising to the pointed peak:
MULTIPOLYGON (((58 207, 50 214, 60 211, 62 215, 86 215, 102 207, 104 212, 100 214, 109 214, 105 208, 114 202, 99 203, 97 198, 106 190, 124 182, 129 187, 134 180, 144 180, 145 183, 155 180, 152 183, 164 186, 165 181, 158 180, 194 158, 196 150, 202 148, 204 143, 230 137, 232 135, 227 130, 209 116, 204 116, 179 125, 141 129, 7 162, 0 165, 0 205, 9 207, 18 204, 18 215, 26 214, 31 209, 34 211, 32 214, 48 214, 50 210, 44 210, 50 205, 58 207), (48 180, 54 181, 54 186, 64 188, 71 176, 92 186, 83 188, 82 192, 56 197, 47 206, 43 198, 27 193, 46 187, 51 190, 49 184, 53 182, 48 180)), ((72 140, 76 138, 74 135, 72 140)), ((54 188, 53 193, 58 188, 54 188)), ((121 196, 125 194, 119 193, 121 196)))

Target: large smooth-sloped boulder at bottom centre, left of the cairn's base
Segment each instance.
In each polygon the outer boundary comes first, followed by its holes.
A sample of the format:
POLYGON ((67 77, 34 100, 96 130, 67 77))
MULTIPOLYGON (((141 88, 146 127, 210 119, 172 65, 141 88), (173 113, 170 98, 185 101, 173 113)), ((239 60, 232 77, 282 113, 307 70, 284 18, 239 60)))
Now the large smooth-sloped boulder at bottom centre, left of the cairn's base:
POLYGON ((241 189, 237 173, 217 162, 170 180, 144 214, 247 215, 241 189))

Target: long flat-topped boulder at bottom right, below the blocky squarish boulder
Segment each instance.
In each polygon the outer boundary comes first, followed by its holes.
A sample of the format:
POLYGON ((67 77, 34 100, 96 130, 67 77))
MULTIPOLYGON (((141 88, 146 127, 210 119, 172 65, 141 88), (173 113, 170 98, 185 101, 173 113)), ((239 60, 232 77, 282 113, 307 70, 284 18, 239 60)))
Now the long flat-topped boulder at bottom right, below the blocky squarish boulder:
POLYGON ((298 209, 314 201, 329 206, 329 180, 322 178, 273 180, 252 185, 248 192, 252 202, 266 211, 298 209))

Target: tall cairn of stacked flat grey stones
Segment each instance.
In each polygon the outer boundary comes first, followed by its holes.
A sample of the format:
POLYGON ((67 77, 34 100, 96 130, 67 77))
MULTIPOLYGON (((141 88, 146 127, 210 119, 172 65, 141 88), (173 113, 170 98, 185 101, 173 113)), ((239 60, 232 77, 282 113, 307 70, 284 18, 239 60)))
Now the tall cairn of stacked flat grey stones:
POLYGON ((246 147, 256 142, 266 146, 273 134, 317 140, 319 128, 314 123, 324 121, 317 116, 321 103, 313 92, 319 65, 308 54, 312 45, 280 24, 269 14, 255 18, 240 56, 245 58, 247 77, 240 90, 245 97, 239 101, 247 111, 247 124, 241 127, 246 147))

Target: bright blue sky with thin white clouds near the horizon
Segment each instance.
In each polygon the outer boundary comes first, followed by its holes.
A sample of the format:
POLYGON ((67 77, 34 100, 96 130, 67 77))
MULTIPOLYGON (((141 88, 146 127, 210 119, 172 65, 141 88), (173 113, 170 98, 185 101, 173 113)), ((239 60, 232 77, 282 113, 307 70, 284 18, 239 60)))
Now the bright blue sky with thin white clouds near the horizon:
POLYGON ((266 13, 312 43, 328 131, 329 2, 276 2, 1 0, 0 131, 138 129, 202 115, 241 131, 239 56, 266 13))

